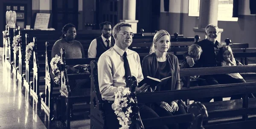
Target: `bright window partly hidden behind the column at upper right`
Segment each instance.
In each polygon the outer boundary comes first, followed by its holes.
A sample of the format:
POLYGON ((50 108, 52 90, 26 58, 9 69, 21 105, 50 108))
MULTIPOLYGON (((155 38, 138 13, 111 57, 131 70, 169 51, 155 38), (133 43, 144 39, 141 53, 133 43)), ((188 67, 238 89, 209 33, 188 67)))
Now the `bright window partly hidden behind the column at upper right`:
MULTIPOLYGON (((199 17, 200 0, 189 0, 189 16, 199 17)), ((218 20, 237 21, 233 16, 233 0, 219 0, 218 20)))

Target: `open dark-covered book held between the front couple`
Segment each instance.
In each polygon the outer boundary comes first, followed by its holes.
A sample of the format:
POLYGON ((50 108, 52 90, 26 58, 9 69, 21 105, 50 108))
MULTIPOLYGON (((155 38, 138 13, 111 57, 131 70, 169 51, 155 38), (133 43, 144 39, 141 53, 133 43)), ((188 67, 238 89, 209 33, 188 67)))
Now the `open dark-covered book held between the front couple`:
POLYGON ((154 88, 154 86, 157 86, 161 83, 165 83, 167 80, 169 80, 172 76, 170 77, 166 77, 166 78, 163 78, 161 80, 157 79, 157 78, 154 78, 154 77, 145 77, 143 80, 140 81, 139 83, 139 87, 142 86, 143 84, 147 83, 147 85, 149 85, 150 87, 154 88))

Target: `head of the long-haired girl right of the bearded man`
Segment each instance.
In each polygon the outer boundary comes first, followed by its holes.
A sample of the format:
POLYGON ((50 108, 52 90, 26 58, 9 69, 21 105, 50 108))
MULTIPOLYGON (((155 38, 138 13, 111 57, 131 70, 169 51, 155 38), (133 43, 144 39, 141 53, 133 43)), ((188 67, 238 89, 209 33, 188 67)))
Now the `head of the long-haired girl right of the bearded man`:
POLYGON ((221 53, 221 59, 224 61, 227 61, 227 58, 230 58, 232 62, 233 60, 235 60, 230 46, 222 46, 220 48, 220 53, 221 53))

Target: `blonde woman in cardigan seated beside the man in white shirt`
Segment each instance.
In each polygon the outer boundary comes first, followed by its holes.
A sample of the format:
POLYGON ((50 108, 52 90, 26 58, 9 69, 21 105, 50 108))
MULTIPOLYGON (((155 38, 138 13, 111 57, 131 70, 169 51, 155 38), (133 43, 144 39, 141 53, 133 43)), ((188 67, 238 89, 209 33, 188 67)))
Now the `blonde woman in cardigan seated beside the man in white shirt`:
MULTIPOLYGON (((180 74, 178 58, 174 54, 168 53, 171 46, 170 34, 165 30, 160 30, 154 35, 153 43, 149 55, 143 58, 143 76, 163 79, 172 76, 166 83, 158 85, 155 91, 179 90, 180 74)), ((160 116, 172 116, 186 114, 186 105, 181 100, 169 102, 152 103, 151 108, 160 116)), ((169 129, 175 129, 177 125, 167 125, 169 129)), ((188 124, 179 124, 179 129, 187 129, 188 124)))

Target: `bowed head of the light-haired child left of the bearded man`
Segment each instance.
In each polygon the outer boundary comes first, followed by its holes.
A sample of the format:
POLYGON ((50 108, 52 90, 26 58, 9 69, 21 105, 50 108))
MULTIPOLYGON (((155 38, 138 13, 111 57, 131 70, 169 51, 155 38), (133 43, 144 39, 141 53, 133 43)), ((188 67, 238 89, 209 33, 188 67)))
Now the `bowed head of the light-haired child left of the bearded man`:
POLYGON ((193 58, 194 61, 198 61, 200 59, 200 55, 203 52, 201 46, 197 44, 192 44, 189 46, 189 56, 193 58))

